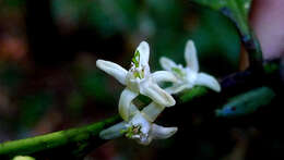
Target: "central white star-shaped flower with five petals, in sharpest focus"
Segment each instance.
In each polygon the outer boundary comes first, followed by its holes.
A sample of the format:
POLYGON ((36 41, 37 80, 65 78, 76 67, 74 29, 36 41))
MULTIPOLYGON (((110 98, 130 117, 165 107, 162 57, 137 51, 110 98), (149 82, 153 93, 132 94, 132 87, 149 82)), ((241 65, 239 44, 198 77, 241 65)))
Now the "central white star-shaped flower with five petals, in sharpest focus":
POLYGON ((100 70, 113 75, 122 85, 126 85, 126 89, 120 95, 118 106, 119 114, 127 122, 133 113, 130 108, 131 102, 139 94, 150 97, 159 106, 170 107, 176 103, 175 99, 157 85, 159 82, 176 82, 175 75, 167 71, 151 73, 149 57, 150 47, 147 42, 142 41, 134 53, 132 66, 129 71, 109 61, 96 61, 96 65, 100 70))

